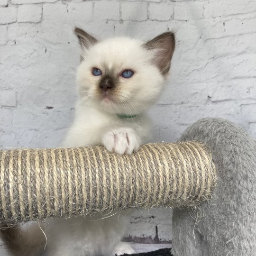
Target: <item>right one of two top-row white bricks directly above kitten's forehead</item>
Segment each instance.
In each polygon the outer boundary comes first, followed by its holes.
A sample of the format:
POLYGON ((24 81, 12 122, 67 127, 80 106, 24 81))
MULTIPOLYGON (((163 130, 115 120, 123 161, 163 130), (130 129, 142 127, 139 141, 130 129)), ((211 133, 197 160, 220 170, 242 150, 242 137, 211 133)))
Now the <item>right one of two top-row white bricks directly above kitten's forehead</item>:
POLYGON ((121 3, 121 18, 123 20, 146 20, 146 2, 123 2, 121 3))

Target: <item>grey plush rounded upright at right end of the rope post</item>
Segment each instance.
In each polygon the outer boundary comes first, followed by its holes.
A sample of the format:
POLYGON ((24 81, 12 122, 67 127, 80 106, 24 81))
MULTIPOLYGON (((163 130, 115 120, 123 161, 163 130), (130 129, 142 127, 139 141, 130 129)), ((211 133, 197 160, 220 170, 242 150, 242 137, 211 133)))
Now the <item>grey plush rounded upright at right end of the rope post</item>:
POLYGON ((174 256, 256 255, 256 141, 223 119, 201 119, 181 141, 209 146, 218 182, 212 199, 174 209, 174 256))

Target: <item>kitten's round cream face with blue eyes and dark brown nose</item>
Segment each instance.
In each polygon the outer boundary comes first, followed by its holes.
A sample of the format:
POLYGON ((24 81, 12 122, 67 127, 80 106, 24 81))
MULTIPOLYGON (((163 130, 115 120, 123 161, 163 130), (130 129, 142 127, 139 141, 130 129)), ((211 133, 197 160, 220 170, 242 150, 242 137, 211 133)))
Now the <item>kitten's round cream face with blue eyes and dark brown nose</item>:
POLYGON ((147 110, 158 98, 167 72, 161 72, 154 62, 151 46, 125 37, 101 42, 93 38, 91 44, 86 41, 86 47, 80 43, 85 51, 77 82, 86 104, 131 115, 147 110))

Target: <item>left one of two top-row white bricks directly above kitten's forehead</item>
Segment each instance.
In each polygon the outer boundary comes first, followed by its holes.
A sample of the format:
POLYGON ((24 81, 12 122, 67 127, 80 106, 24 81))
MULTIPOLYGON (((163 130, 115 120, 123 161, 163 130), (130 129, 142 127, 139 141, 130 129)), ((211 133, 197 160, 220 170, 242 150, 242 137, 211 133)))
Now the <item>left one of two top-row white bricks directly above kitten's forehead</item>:
POLYGON ((119 20, 119 2, 116 1, 96 1, 94 3, 93 18, 119 20))

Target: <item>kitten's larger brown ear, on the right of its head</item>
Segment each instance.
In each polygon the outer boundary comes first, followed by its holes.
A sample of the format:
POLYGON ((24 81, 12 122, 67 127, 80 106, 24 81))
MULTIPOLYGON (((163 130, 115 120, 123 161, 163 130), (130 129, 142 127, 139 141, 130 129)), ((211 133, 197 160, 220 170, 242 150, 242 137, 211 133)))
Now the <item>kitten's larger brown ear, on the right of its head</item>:
POLYGON ((165 32, 143 45, 147 50, 155 51, 154 64, 163 75, 167 74, 175 48, 175 37, 173 32, 165 32))

